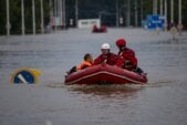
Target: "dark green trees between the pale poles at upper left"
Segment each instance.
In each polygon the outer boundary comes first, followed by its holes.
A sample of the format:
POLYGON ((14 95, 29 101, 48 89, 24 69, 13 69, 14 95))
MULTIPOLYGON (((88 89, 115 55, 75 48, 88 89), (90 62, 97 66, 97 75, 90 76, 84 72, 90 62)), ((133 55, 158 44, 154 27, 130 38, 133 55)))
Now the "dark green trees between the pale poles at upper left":
MULTIPOLYGON (((7 23, 7 0, 0 0, 0 34, 6 34, 7 23)), ((10 24, 11 34, 21 33, 21 0, 9 0, 10 2, 10 24)), ((44 12, 44 24, 46 25, 50 21, 50 7, 49 0, 43 0, 43 12, 44 12)), ((41 25, 41 9, 40 0, 35 0, 35 24, 37 31, 40 31, 41 25)), ((32 32, 32 0, 24 0, 24 25, 25 33, 32 32)))

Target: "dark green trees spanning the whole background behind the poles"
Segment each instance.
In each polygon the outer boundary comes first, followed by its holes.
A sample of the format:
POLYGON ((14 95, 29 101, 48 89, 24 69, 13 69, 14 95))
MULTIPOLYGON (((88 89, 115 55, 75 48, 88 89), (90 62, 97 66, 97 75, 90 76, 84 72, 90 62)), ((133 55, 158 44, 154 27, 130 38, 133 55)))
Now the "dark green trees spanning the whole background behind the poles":
MULTIPOLYGON (((6 1, 0 0, 0 34, 6 34, 6 1)), ((10 1, 10 23, 11 34, 21 33, 21 0, 9 0, 10 1)), ((52 0, 53 1, 53 0, 52 0)), ((102 12, 102 23, 111 27, 115 25, 116 17, 116 0, 77 0, 79 1, 79 19, 98 18, 102 12)), ((143 1, 143 18, 153 12, 153 0, 143 1)), ((131 17, 132 24, 134 24, 134 0, 131 2, 131 17)), ((175 22, 178 23, 178 0, 174 0, 175 4, 175 22)), ((66 7, 66 23, 69 24, 70 19, 75 19, 75 0, 65 0, 66 7)), ((159 1, 158 1, 159 3, 159 1)), ((170 18, 170 2, 168 2, 168 19, 170 18)), ((118 0, 118 8, 121 17, 126 20, 127 0, 118 0)), ((41 9, 40 0, 35 0, 35 27, 37 32, 41 29, 41 9)), ((138 20, 141 22, 141 0, 137 0, 138 20)), ((32 32, 32 0, 24 0, 24 17, 25 17, 25 33, 32 32)), ((49 6, 49 0, 43 0, 44 9, 44 25, 50 22, 50 10, 52 7, 49 6)), ((158 8, 159 10, 159 8, 158 8)), ((187 28, 187 0, 183 0, 183 23, 187 28)))

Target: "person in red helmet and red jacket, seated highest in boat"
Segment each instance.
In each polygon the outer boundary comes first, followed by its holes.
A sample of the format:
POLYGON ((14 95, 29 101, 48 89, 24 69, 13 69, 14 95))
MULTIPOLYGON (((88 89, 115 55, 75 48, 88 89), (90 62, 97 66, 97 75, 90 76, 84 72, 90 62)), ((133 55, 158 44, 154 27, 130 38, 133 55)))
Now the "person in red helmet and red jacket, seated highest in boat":
POLYGON ((126 48, 126 41, 124 39, 116 40, 118 48, 118 59, 116 65, 128 71, 143 73, 141 67, 137 66, 137 59, 135 52, 132 49, 126 48))

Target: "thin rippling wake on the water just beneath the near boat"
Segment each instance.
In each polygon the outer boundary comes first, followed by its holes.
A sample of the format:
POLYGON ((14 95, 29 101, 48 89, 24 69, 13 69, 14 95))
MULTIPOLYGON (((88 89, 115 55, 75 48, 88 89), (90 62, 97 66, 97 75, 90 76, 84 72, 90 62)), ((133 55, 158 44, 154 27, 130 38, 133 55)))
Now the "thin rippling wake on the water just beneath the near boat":
POLYGON ((163 87, 163 86, 170 86, 173 83, 176 83, 176 81, 154 81, 148 82, 146 84, 83 84, 83 85, 65 85, 64 83, 50 83, 46 86, 51 88, 67 88, 71 91, 111 91, 111 92, 117 92, 117 91, 129 91, 129 90, 141 90, 145 87, 163 87))

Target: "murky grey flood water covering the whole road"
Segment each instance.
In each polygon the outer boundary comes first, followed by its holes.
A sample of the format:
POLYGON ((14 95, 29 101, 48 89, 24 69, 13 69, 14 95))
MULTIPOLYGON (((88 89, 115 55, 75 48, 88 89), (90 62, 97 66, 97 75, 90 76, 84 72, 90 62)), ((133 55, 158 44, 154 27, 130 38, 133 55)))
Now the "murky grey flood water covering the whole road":
POLYGON ((108 29, 107 33, 70 29, 44 35, 0 37, 0 125, 186 125, 187 32, 108 29), (125 38, 146 85, 66 86, 65 72, 94 58, 104 42, 117 53, 125 38), (11 84, 13 71, 40 70, 33 85, 11 84))

